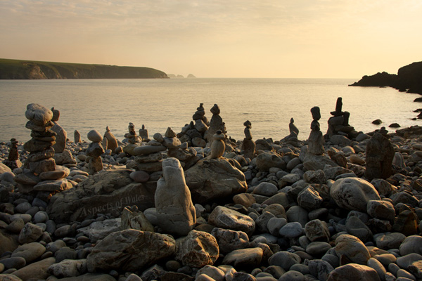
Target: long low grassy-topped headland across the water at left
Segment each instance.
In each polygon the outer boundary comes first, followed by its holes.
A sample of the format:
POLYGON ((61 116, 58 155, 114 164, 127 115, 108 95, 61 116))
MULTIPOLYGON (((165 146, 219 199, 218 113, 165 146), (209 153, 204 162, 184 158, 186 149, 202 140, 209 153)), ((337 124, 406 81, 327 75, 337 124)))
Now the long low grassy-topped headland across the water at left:
POLYGON ((0 79, 126 79, 169 78, 149 67, 51 63, 0 59, 0 79))

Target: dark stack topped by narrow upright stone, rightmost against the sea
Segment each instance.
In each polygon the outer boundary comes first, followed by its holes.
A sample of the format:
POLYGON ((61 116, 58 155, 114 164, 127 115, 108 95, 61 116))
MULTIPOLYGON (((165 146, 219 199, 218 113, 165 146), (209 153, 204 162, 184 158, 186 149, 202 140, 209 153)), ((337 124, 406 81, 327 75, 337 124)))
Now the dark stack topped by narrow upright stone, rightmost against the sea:
POLYGON ((335 111, 330 112, 332 117, 328 119, 328 130, 326 136, 331 138, 333 135, 342 135, 347 138, 356 138, 358 133, 349 125, 350 112, 342 111, 342 98, 337 98, 335 103, 335 111))

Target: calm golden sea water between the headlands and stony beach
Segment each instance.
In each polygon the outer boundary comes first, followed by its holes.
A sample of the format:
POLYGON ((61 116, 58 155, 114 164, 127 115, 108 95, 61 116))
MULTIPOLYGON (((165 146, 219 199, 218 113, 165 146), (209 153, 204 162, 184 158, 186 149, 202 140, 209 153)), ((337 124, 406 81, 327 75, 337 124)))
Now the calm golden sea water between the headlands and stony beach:
MULTIPOLYGON (((290 118, 306 140, 312 122, 311 107, 321 108, 321 131, 326 132, 329 112, 343 98, 343 111, 350 112, 350 124, 369 132, 393 122, 401 126, 421 124, 412 112, 418 95, 390 88, 349 87, 358 79, 69 79, 0 80, 0 141, 30 139, 25 128, 26 105, 39 103, 60 110, 58 123, 82 139, 106 126, 122 140, 129 122, 135 129, 145 124, 150 136, 165 133, 167 127, 179 133, 191 122, 200 103, 208 119, 217 103, 228 135, 243 139, 243 122, 252 122, 252 136, 280 140, 288 135, 290 118), (371 124, 381 119, 383 124, 371 124)), ((390 129, 394 131, 395 129, 390 129)))

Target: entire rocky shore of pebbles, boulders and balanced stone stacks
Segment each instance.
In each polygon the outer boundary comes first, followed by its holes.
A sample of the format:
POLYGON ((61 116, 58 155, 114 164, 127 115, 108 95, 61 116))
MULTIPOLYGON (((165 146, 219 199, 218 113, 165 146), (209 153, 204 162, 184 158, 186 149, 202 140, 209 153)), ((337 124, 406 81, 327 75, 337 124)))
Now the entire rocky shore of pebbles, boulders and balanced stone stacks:
MULTIPOLYGON (((179 133, 75 131, 30 104, 0 143, 0 280, 422 280, 422 127, 227 137, 203 104, 179 133)), ((324 121, 325 122, 325 121, 324 121)))

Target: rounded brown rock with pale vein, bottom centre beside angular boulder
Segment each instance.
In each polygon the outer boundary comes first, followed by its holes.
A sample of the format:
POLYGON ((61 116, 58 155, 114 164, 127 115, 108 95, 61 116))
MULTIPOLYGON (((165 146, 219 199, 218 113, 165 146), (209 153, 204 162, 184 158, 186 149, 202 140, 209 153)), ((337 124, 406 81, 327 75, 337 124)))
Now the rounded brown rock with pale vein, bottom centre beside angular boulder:
POLYGON ((184 266, 201 268, 212 265, 219 257, 219 247, 210 233, 191 230, 182 240, 177 241, 176 259, 184 266))

